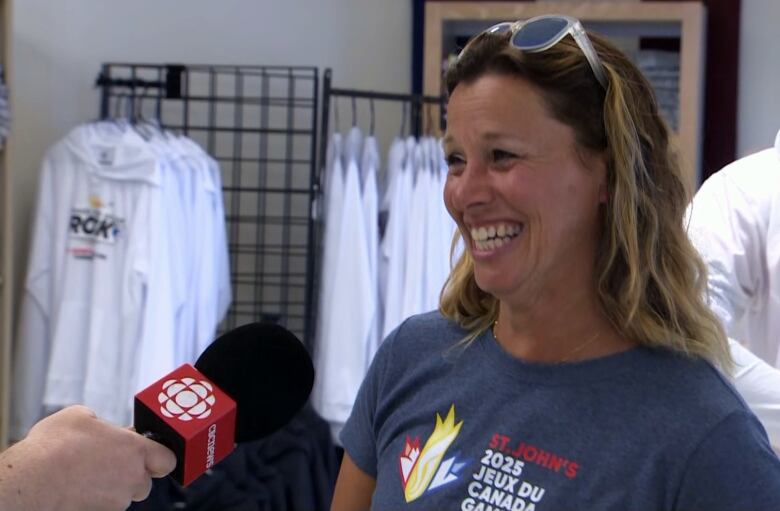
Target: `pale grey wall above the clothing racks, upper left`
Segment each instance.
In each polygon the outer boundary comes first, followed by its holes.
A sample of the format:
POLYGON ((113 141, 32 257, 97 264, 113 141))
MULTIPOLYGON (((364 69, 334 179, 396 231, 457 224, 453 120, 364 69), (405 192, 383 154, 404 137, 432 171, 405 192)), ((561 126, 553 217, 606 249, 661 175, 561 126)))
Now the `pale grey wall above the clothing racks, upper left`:
MULTIPOLYGON (((93 83, 102 62, 332 67, 335 86, 406 92, 411 11, 409 0, 15 1, 9 38, 15 295, 41 157, 73 126, 96 117, 93 83)), ((349 117, 344 107, 341 117, 349 117)))

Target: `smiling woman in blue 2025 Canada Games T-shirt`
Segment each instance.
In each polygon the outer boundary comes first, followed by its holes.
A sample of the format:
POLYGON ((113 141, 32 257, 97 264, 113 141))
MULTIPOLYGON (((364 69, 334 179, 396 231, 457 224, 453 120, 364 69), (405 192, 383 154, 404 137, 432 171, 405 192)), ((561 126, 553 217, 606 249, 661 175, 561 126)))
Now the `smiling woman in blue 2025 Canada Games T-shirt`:
POLYGON ((780 509, 780 461, 715 367, 668 129, 591 38, 501 24, 448 71, 444 200, 468 250, 440 312, 380 348, 334 510, 780 509))

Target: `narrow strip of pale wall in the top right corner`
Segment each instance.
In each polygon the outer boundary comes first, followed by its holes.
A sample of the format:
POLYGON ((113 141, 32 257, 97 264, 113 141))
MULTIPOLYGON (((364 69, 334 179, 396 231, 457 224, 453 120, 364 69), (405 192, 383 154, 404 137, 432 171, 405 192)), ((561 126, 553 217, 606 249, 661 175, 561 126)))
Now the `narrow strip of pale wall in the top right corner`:
POLYGON ((742 0, 737 155, 770 147, 780 130, 780 1, 742 0))

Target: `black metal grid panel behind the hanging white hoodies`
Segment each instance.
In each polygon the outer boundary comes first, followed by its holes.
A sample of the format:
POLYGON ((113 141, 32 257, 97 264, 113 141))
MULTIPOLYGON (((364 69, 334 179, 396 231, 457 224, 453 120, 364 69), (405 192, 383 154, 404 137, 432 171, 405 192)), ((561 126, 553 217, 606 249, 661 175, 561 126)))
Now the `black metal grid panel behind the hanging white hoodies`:
POLYGON ((100 117, 156 119, 220 164, 233 302, 228 330, 277 321, 311 347, 318 71, 107 63, 100 117))

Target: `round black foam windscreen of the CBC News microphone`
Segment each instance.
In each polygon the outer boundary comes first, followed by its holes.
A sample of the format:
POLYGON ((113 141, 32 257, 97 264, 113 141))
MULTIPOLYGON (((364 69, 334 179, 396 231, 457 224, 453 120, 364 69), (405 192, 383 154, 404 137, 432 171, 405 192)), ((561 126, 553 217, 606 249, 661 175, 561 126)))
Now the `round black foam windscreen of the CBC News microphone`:
POLYGON ((306 348, 292 332, 271 323, 225 333, 195 367, 236 401, 237 442, 265 437, 287 424, 314 385, 306 348))

